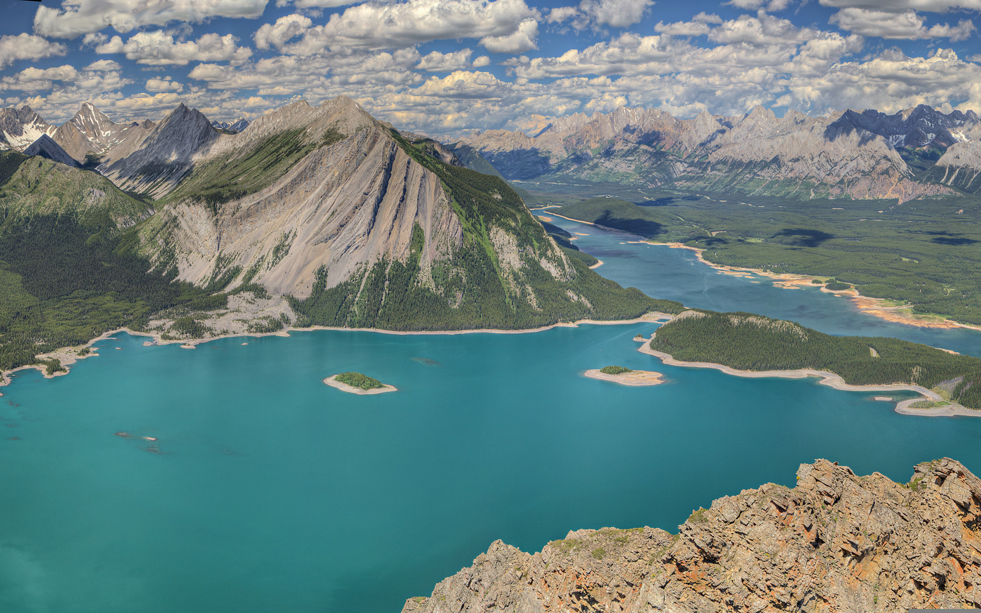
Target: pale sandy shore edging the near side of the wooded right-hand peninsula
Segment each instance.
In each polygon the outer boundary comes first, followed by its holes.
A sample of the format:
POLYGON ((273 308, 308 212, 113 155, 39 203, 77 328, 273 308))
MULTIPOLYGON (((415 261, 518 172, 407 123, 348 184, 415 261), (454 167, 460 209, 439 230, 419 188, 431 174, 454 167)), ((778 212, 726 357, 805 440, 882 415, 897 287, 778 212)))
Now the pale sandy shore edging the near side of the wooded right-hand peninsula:
MULTIPOLYGON (((820 377, 822 385, 828 385, 834 387, 835 389, 842 389, 844 391, 898 391, 901 389, 908 389, 910 391, 915 391, 922 394, 929 400, 943 400, 943 398, 937 394, 937 392, 927 389, 922 385, 913 385, 909 383, 890 383, 886 385, 852 385, 850 383, 845 383, 840 375, 831 373, 828 371, 816 371, 809 368, 801 368, 793 371, 740 371, 732 367, 725 366, 723 364, 716 364, 714 362, 683 362, 681 360, 676 360, 669 354, 662 351, 657 351, 651 349, 648 342, 644 342, 638 351, 641 353, 646 353, 647 355, 652 355, 658 358, 664 364, 668 366, 682 366, 688 368, 712 368, 717 371, 722 371, 726 375, 734 375, 736 377, 747 377, 747 378, 759 378, 759 377, 779 377, 781 379, 805 379, 807 377, 820 377)), ((968 409, 967 407, 960 406, 952 402, 948 406, 936 407, 933 409, 912 409, 909 405, 922 400, 923 398, 910 398, 909 400, 903 400, 896 404, 896 412, 902 413, 904 415, 919 415, 924 417, 941 417, 941 416, 952 416, 952 415, 963 415, 966 417, 981 417, 981 411, 975 411, 973 409, 968 409)))

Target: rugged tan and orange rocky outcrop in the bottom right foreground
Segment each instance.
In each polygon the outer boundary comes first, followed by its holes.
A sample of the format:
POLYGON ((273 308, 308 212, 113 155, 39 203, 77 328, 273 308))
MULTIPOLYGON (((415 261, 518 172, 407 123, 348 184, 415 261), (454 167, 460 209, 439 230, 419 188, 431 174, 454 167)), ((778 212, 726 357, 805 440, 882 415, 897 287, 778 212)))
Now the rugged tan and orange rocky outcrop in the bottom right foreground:
POLYGON ((908 484, 801 464, 698 509, 679 534, 581 530, 524 553, 497 540, 402 613, 695 613, 981 607, 981 480, 944 458, 908 484))

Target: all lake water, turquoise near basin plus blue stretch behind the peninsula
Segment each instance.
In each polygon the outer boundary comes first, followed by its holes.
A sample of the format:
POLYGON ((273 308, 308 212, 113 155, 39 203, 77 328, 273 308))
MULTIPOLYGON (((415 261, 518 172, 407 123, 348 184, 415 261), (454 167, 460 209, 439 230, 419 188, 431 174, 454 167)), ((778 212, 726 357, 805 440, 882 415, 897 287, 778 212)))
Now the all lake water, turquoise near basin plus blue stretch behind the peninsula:
MULTIPOLYGON (((657 297, 981 354, 979 332, 880 322, 561 225, 589 234, 597 272, 657 297)), ((0 397, 0 611, 397 613, 495 538, 536 551, 580 528, 675 531, 714 498, 794 485, 817 457, 903 482, 941 456, 981 469, 981 419, 667 367, 636 350, 655 329, 294 332, 194 350, 120 334, 66 377, 22 373, 0 397), (608 364, 670 383, 581 375, 608 364), (399 391, 322 383, 345 370, 399 391)))

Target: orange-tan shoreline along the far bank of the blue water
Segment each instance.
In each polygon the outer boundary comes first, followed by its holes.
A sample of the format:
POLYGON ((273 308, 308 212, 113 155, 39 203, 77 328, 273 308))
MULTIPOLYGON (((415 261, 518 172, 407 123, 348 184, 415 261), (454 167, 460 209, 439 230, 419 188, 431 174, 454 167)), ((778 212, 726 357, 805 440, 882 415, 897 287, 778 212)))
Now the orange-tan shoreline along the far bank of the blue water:
MULTIPOLYGON (((610 231, 621 232, 626 234, 630 233, 625 230, 618 230, 616 228, 609 228, 607 226, 602 226, 600 224, 594 224, 593 222, 587 222, 584 220, 573 219, 571 217, 565 217, 564 215, 559 215, 558 213, 554 213, 552 211, 549 211, 548 215, 561 217, 564 220, 569 220, 570 222, 576 222, 577 224, 586 224, 588 226, 595 226, 596 228, 601 228, 603 230, 610 230, 610 231)), ((704 258, 704 256, 702 255, 703 252, 705 251, 704 249, 699 249, 698 247, 692 247, 680 242, 654 242, 652 240, 647 240, 647 239, 636 240, 636 241, 632 240, 628 242, 645 243, 648 245, 662 245, 662 246, 670 247, 672 249, 688 249, 689 251, 695 251, 698 262, 701 262, 705 266, 708 266, 710 268, 719 271, 723 275, 732 275, 735 277, 748 277, 750 275, 756 275, 759 277, 768 277, 774 280, 773 283, 774 285, 778 287, 783 287, 784 289, 795 289, 799 287, 816 286, 817 284, 811 281, 813 281, 814 279, 819 279, 808 275, 793 275, 791 273, 771 273, 769 271, 764 271, 761 269, 744 268, 738 266, 725 266, 724 264, 715 264, 713 262, 709 262, 704 258)), ((886 300, 882 298, 871 298, 869 296, 863 296, 859 294, 857 291, 855 291, 854 289, 832 291, 830 289, 825 288, 822 285, 821 291, 847 297, 852 301, 852 303, 855 305, 855 308, 857 308, 859 311, 871 315, 873 317, 877 317, 879 319, 885 320, 887 322, 905 324, 907 326, 917 326, 919 328, 942 328, 942 329, 966 328, 968 330, 981 331, 981 327, 971 326, 969 324, 961 324, 951 319, 940 318, 939 316, 937 319, 933 319, 930 318, 929 316, 917 317, 915 315, 900 313, 898 312, 900 309, 908 309, 909 306, 897 306, 897 307, 885 306, 883 303, 885 303, 886 300)))

